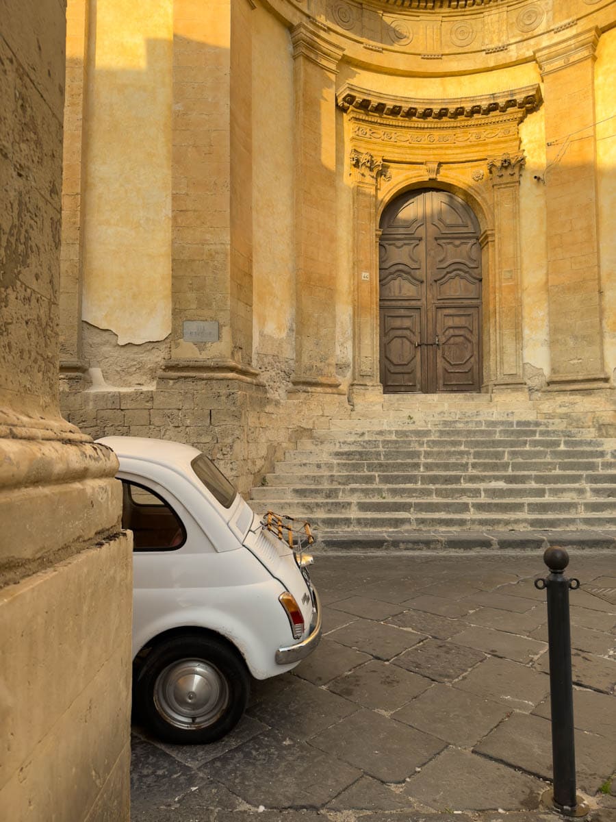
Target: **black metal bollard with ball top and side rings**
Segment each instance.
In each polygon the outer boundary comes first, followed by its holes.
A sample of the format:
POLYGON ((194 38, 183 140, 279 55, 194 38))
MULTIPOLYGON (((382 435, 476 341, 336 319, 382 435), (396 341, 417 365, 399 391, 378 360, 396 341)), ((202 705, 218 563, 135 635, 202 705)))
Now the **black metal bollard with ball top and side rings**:
POLYGON ((569 622, 569 589, 579 588, 580 580, 569 580, 563 574, 569 563, 569 556, 564 548, 550 547, 543 558, 550 573, 545 580, 535 580, 535 587, 547 589, 548 598, 549 698, 552 708, 554 771, 554 792, 545 792, 544 800, 563 815, 583 816, 589 808, 576 793, 569 622))

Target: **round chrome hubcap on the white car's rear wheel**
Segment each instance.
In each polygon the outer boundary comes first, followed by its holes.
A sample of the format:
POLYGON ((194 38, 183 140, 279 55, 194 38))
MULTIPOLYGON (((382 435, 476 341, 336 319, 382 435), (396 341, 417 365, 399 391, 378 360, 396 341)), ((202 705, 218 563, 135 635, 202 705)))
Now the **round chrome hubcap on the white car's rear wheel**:
POLYGON ((154 704, 175 727, 197 730, 214 723, 229 703, 227 680, 203 659, 179 659, 154 683, 154 704))

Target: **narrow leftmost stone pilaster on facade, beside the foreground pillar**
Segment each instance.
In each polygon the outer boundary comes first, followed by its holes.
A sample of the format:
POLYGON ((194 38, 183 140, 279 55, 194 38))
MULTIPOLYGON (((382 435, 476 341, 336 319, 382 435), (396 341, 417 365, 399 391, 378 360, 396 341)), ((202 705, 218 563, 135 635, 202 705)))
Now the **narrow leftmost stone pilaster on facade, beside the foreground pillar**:
POLYGON ((62 164, 62 244, 60 251, 60 373, 80 385, 87 363, 81 350, 81 268, 83 225, 83 118, 86 46, 90 4, 67 4, 67 78, 62 164))

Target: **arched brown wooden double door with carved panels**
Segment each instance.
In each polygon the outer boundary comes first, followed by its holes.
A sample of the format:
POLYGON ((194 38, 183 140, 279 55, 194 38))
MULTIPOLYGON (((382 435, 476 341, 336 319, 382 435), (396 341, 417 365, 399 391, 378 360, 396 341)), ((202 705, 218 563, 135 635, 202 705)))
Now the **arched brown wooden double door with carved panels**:
POLYGON ((383 390, 479 391, 481 252, 476 216, 454 194, 422 190, 392 201, 380 227, 383 390))

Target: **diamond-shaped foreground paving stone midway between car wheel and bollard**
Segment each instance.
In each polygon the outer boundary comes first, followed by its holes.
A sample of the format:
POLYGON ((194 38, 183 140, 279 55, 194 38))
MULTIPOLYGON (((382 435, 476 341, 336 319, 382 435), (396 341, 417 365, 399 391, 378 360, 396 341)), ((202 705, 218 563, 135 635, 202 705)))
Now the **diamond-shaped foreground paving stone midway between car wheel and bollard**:
POLYGON ((403 782, 442 750, 444 742, 379 713, 360 710, 313 737, 310 745, 382 782, 403 782))

